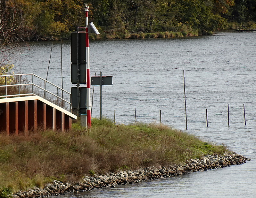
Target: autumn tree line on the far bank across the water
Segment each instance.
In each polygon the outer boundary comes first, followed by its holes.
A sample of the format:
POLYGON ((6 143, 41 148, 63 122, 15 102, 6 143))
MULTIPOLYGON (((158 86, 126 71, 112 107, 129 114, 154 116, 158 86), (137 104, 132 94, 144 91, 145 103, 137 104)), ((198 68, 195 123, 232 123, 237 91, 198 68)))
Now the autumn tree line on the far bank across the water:
POLYGON ((89 20, 108 34, 192 31, 256 21, 256 0, 0 0, 0 45, 69 37, 89 20))

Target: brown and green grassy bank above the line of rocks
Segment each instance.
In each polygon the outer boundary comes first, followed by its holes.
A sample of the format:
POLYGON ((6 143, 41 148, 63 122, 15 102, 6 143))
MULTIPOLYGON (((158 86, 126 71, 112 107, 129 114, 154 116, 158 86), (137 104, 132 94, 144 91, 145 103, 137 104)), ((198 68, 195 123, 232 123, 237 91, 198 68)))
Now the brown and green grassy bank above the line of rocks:
POLYGON ((164 125, 119 125, 109 119, 93 119, 90 130, 73 125, 65 133, 31 131, 28 137, 1 133, 0 188, 26 190, 54 179, 78 181, 95 172, 180 164, 227 150, 164 125))

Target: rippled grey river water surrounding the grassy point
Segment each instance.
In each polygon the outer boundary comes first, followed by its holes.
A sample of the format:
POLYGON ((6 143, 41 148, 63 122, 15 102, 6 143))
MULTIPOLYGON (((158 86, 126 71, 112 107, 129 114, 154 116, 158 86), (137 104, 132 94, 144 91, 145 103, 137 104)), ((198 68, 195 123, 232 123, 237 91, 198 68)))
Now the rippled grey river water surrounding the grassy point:
MULTIPOLYGON (((256 33, 220 32, 171 39, 90 41, 91 76, 103 86, 103 116, 117 123, 160 122, 228 145, 252 159, 232 167, 61 197, 256 197, 256 33), (183 70, 185 70, 187 126, 183 70), (244 124, 244 109, 246 126, 244 124), (229 105, 230 126, 227 120, 229 105), (206 127, 206 109, 208 123, 206 127)), ((16 71, 46 78, 51 42, 33 42, 16 71)), ((70 90, 70 42, 63 42, 64 88, 70 90)), ((61 44, 54 42, 48 80, 61 86, 61 44)), ((18 64, 17 64, 18 65, 18 64)), ((74 86, 74 85, 73 85, 74 86)), ((92 117, 99 117, 99 86, 92 117)), ((93 87, 91 88, 93 93, 93 87)))

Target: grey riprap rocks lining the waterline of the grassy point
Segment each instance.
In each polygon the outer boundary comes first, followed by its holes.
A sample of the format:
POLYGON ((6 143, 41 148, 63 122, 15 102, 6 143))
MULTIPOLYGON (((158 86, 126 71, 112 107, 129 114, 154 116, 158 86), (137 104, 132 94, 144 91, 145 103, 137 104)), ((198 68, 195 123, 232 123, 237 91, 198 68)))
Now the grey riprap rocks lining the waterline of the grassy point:
POLYGON ((115 185, 133 184, 153 179, 174 177, 190 172, 206 171, 222 168, 230 165, 246 163, 249 158, 236 153, 224 153, 224 155, 207 155, 201 159, 190 159, 184 165, 172 165, 169 167, 147 167, 136 171, 118 171, 105 175, 85 176, 81 183, 66 183, 54 180, 46 184, 44 189, 34 187, 27 192, 16 192, 13 197, 48 197, 66 193, 78 193, 97 188, 115 187, 115 185))

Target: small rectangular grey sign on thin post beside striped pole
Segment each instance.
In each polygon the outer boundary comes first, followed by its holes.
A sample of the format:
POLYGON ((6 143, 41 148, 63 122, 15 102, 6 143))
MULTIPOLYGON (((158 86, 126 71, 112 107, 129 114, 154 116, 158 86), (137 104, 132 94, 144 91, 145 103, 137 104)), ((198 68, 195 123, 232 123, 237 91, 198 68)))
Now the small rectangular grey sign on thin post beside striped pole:
POLYGON ((113 85, 113 76, 100 76, 91 77, 92 85, 100 85, 100 119, 102 119, 102 86, 103 85, 113 85))

